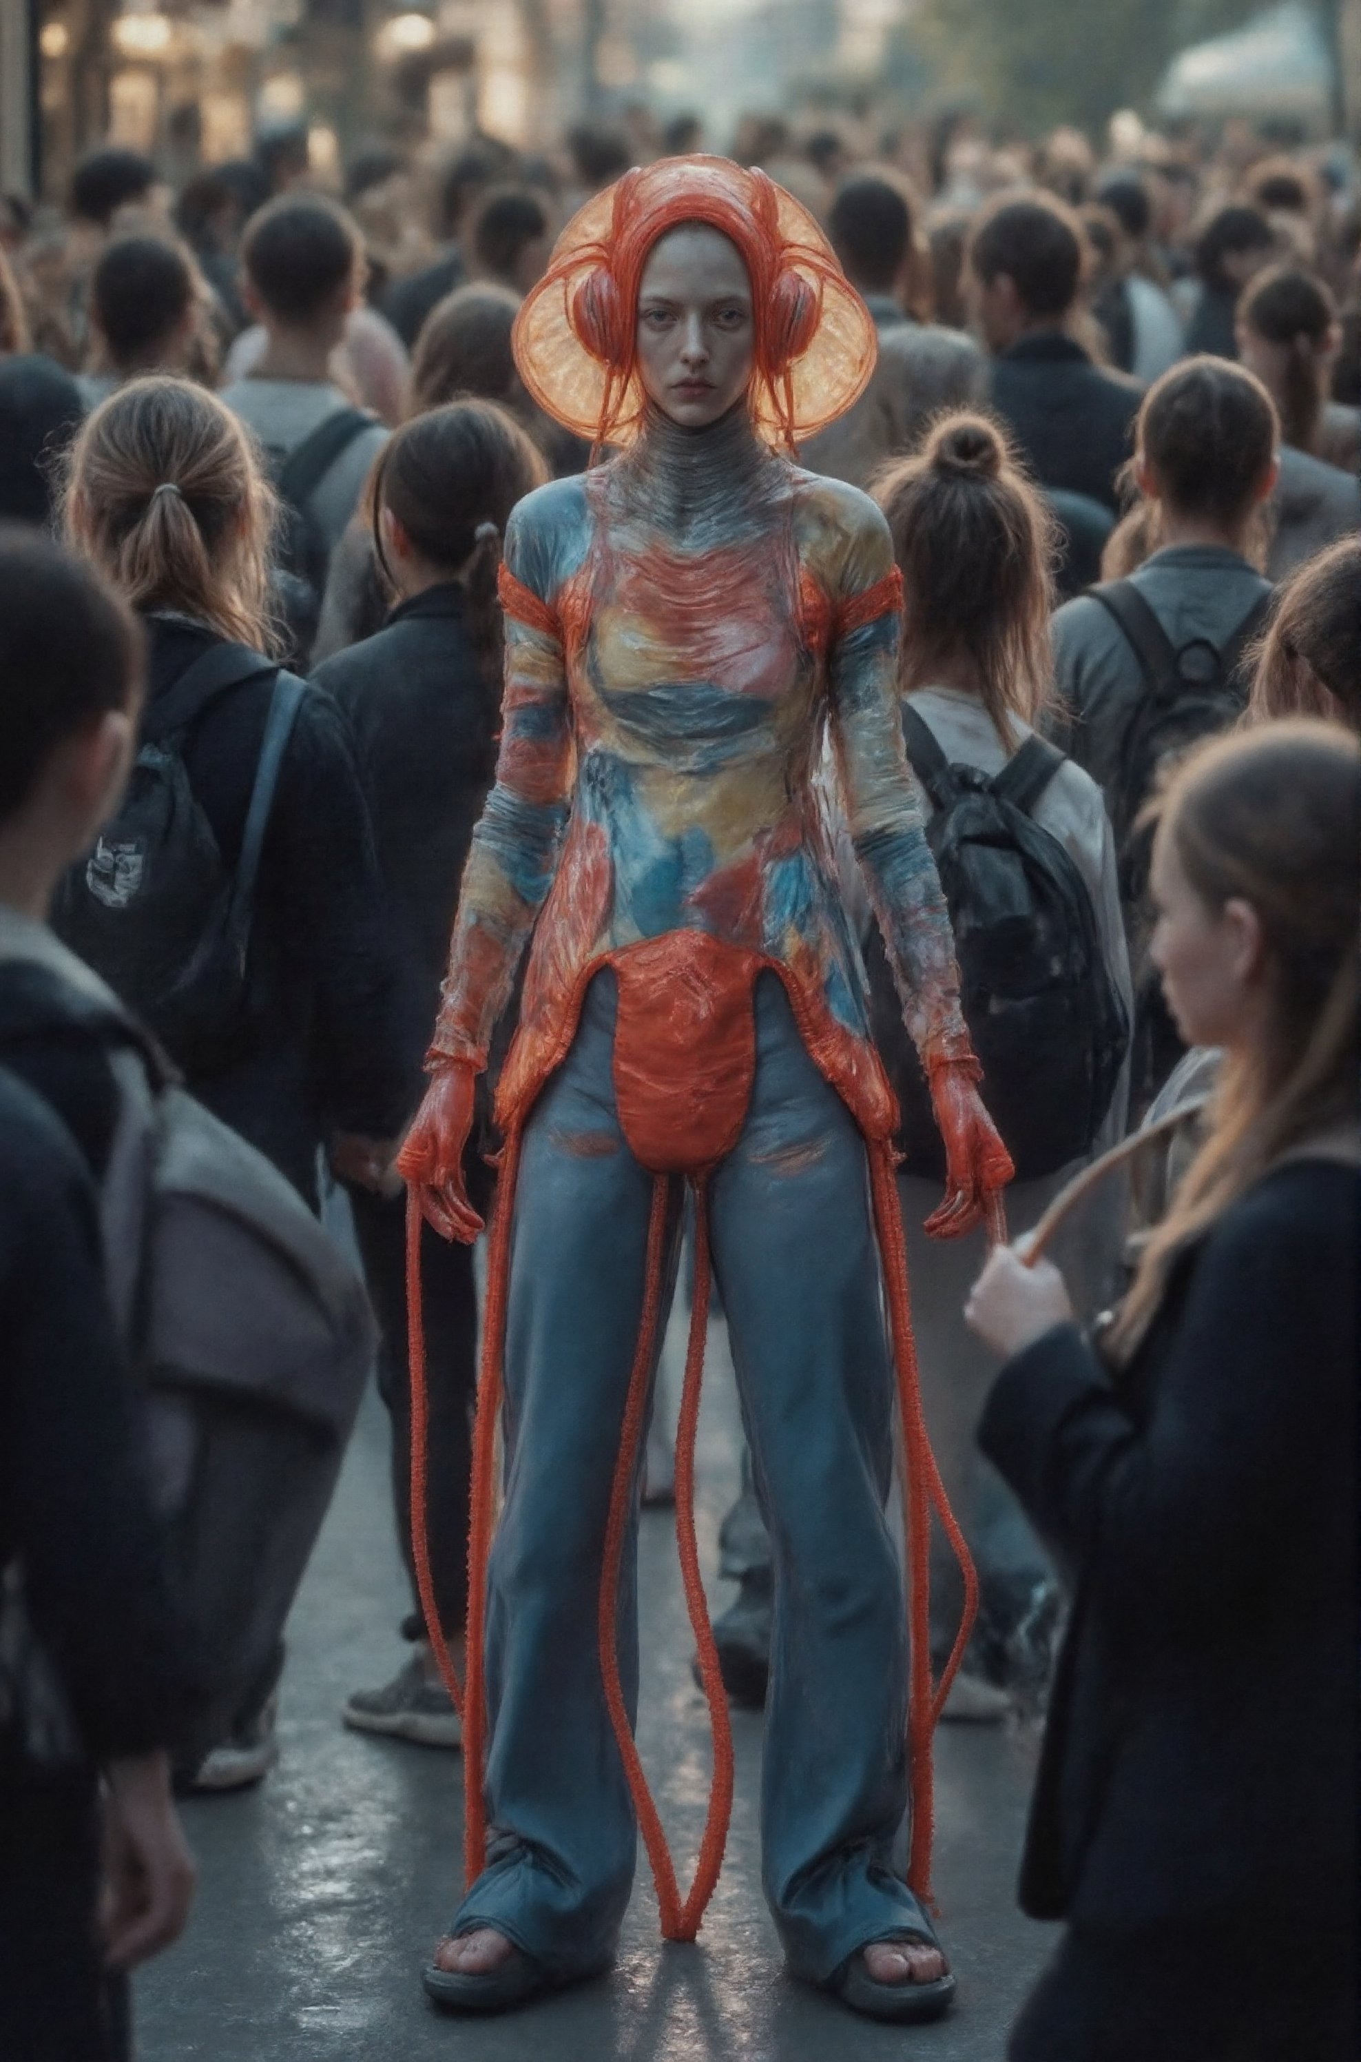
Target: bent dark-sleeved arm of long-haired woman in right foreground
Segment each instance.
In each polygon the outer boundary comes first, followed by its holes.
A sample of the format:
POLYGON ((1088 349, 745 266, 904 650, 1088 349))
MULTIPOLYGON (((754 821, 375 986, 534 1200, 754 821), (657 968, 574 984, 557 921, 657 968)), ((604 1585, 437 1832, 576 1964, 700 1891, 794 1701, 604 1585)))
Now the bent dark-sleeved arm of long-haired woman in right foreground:
POLYGON ((1351 1448, 1355 1177, 1351 1206, 1326 1210, 1299 1208, 1299 1173, 1210 1237, 1147 1423, 1066 1324, 988 1398, 982 1450, 1122 1612, 1194 1627, 1252 1594, 1351 1448))

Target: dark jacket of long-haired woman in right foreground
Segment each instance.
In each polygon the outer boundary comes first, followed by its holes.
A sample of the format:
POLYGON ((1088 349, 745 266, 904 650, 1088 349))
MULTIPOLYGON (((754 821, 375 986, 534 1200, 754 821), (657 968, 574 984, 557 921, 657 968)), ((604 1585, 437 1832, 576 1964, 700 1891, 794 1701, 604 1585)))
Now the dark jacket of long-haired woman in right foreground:
POLYGON ((1114 1386, 1058 1326, 988 1398, 980 1443, 1076 1575, 1033 1918, 1355 1920, 1359 1229, 1353 1167, 1285 1163, 1182 1256, 1114 1386))

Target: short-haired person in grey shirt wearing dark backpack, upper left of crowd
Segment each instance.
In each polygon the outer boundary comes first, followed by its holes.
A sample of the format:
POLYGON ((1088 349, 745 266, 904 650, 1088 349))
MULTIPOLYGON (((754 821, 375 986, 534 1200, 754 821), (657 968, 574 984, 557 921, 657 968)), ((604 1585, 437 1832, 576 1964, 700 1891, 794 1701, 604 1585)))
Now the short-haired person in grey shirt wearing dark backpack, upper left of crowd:
POLYGON ((260 441, 278 499, 276 559, 291 656, 305 664, 330 555, 388 431, 332 379, 330 359, 361 301, 359 229, 320 194, 283 194, 252 217, 241 243, 243 295, 264 326, 264 355, 223 400, 260 441))

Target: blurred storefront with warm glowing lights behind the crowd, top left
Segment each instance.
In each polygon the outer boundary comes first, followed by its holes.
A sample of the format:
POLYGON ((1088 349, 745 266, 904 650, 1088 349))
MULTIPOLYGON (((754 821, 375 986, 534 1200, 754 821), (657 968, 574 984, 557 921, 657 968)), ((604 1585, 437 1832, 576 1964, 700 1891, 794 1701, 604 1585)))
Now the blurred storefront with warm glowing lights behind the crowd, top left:
POLYGON ((285 126, 322 175, 359 140, 528 144, 590 99, 602 19, 602 0, 0 0, 2 177, 56 198, 111 140, 181 181, 285 126))

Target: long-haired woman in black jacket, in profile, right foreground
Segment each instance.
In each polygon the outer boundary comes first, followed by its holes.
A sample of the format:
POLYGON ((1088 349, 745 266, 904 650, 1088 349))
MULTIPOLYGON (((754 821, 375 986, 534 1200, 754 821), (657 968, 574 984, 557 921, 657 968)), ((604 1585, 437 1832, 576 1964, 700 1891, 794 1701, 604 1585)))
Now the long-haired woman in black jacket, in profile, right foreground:
POLYGON ((1021 1872, 1068 1932, 1013 2062, 1353 2062, 1361 746, 1177 773, 1153 953, 1210 1130, 1101 1355, 998 1250, 980 1441, 1074 1575, 1021 1872))

